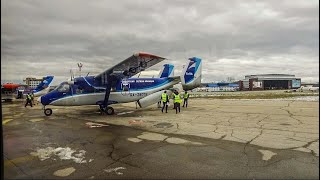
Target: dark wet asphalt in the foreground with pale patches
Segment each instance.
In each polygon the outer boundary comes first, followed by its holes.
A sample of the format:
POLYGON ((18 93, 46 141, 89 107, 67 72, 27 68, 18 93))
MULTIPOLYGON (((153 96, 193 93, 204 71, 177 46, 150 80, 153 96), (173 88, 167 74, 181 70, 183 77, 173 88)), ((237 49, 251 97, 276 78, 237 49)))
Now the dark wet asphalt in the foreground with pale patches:
POLYGON ((108 116, 66 111, 2 104, 5 179, 319 179, 311 153, 263 148, 273 153, 264 157, 249 143, 90 124, 108 116))

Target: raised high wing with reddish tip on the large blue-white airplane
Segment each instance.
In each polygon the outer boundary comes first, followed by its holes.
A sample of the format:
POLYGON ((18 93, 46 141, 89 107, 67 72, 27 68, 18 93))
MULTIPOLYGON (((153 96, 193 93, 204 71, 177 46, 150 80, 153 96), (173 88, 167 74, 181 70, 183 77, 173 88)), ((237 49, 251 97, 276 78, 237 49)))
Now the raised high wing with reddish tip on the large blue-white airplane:
POLYGON ((104 72, 95 76, 95 79, 100 85, 107 84, 108 76, 116 76, 117 78, 129 78, 141 71, 163 61, 165 58, 149 53, 139 52, 135 53, 115 66, 105 70, 104 72))

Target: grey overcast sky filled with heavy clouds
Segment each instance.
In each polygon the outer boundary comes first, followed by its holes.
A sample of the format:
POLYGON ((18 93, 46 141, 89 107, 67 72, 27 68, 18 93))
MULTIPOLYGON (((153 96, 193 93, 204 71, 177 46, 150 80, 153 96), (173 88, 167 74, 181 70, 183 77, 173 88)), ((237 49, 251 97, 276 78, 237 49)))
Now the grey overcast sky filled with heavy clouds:
POLYGON ((139 51, 168 58, 176 75, 200 57, 203 82, 258 73, 319 82, 319 2, 1 1, 2 82, 62 81, 78 62, 95 75, 139 51))

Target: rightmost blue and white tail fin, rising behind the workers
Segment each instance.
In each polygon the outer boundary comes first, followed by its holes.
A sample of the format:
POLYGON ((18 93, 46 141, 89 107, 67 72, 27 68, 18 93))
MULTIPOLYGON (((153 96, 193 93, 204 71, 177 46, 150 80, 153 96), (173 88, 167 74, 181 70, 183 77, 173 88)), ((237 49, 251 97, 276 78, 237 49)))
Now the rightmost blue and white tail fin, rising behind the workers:
POLYGON ((189 62, 183 67, 181 84, 184 90, 191 90, 201 85, 202 60, 197 57, 189 58, 189 62))

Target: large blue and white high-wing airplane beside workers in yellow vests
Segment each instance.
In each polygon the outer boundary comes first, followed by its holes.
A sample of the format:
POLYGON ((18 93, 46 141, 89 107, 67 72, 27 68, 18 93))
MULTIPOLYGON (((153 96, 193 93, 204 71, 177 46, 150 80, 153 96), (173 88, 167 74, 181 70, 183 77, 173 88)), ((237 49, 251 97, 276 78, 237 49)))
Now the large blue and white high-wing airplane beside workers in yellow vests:
MULTIPOLYGON (((189 58, 181 76, 173 76, 173 65, 164 65, 160 77, 132 78, 132 76, 163 61, 165 58, 135 53, 117 65, 96 76, 77 77, 73 81, 62 82, 56 89, 38 98, 44 106, 44 114, 50 116, 54 106, 99 105, 106 114, 114 114, 110 106, 117 103, 138 102, 141 108, 155 104, 164 90, 182 83, 184 90, 200 86, 202 60, 189 58)), ((170 90, 169 90, 170 91, 170 90)))

